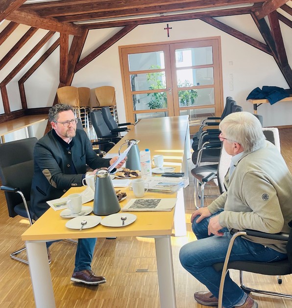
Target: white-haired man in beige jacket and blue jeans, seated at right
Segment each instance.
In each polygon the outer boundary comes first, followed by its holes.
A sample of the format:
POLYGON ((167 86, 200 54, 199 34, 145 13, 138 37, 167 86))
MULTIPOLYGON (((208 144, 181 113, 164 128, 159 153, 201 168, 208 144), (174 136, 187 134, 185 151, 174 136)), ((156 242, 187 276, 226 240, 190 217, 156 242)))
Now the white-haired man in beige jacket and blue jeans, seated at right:
MULTIPOLYGON (((225 151, 233 156, 225 176, 226 192, 193 213, 192 228, 198 241, 180 250, 183 267, 209 289, 194 295, 205 306, 218 305, 221 272, 212 265, 224 262, 231 230, 290 232, 288 222, 292 220, 292 176, 279 151, 265 140, 258 119, 249 112, 231 113, 220 122, 219 129, 225 151)), ((230 255, 230 261, 286 258, 285 244, 248 237, 238 238, 230 255)), ((258 304, 227 273, 223 306, 257 308, 258 304)))

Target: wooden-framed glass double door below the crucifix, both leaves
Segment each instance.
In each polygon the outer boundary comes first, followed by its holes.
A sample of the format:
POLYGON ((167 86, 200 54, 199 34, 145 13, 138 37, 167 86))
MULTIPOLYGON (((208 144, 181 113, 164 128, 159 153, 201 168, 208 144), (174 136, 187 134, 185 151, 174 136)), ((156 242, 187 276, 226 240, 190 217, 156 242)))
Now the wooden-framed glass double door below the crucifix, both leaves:
POLYGON ((190 131, 220 116, 219 38, 121 46, 125 109, 129 122, 189 115, 190 131))

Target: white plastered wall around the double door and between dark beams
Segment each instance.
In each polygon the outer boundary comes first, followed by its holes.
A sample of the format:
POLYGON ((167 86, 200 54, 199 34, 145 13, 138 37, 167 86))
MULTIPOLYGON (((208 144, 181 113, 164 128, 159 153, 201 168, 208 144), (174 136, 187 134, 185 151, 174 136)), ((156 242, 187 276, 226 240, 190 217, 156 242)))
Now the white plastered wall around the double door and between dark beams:
MULTIPOLYGON (((218 18, 218 20, 264 42, 249 15, 221 17, 218 18)), ((280 22, 280 24, 289 63, 290 66, 292 66, 292 29, 282 22, 280 22)), ((115 87, 119 119, 121 122, 124 122, 125 112, 118 46, 220 36, 224 98, 226 96, 232 96, 239 105, 243 106, 243 110, 252 112, 252 105, 245 100, 252 89, 256 87, 262 88, 263 86, 289 88, 272 56, 200 20, 169 22, 169 26, 172 27, 169 38, 167 37, 166 30, 164 30, 166 23, 137 26, 119 42, 93 60, 89 65, 79 70, 74 76, 72 86, 96 88, 109 85, 115 87), (230 86, 231 79, 233 79, 233 87, 230 86)), ((3 25, 0 26, 0 30, 2 27, 3 25)), ((17 28, 14 32, 20 30, 21 29, 18 30, 17 28)), ((119 30, 120 28, 90 30, 81 59, 119 30)), ((42 31, 45 30, 39 31, 40 34, 43 34, 42 31)), ((34 39, 34 37, 32 39, 34 39)), ((52 44, 54 40, 55 37, 50 40, 49 44, 52 44)), ((6 47, 6 50, 7 48, 8 47, 6 47)), ((46 62, 24 83, 28 108, 48 107, 52 105, 59 83, 58 52, 59 49, 57 48, 46 62)), ((0 58, 3 57, 3 54, 5 54, 5 50, 1 46, 0 58)), ((5 66, 5 71, 6 69, 9 71, 11 68, 9 66, 10 63, 7 64, 7 67, 5 66)), ((0 80, 2 80, 6 76, 2 77, 2 71, 0 73, 0 80)), ((11 98, 11 110, 20 108, 20 101, 15 88, 18 79, 19 76, 7 87, 9 99, 11 98)), ((0 101, 0 113, 3 112, 2 110, 2 103, 0 101)), ((262 114, 264 117, 265 126, 292 125, 291 116, 289 116, 291 112, 292 102, 276 103, 273 106, 264 104, 260 106, 258 110, 258 113, 262 114)))

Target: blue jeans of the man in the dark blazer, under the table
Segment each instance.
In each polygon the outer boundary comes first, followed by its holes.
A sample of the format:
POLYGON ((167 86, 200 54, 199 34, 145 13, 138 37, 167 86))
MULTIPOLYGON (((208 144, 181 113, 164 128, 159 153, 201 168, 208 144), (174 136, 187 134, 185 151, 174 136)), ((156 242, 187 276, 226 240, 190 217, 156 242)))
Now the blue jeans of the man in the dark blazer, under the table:
MULTIPOLYGON (((97 239, 78 239, 76 254, 75 254, 75 268, 74 272, 79 270, 91 269, 91 262, 93 258, 94 248, 97 239)), ((47 248, 53 242, 47 242, 47 248)))

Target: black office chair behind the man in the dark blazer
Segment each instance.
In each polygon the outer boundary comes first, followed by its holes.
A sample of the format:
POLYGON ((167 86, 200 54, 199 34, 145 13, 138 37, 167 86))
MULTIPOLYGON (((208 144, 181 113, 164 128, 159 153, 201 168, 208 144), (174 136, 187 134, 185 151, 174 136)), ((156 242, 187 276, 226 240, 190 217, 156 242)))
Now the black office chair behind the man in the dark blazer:
MULTIPOLYGON (((29 220, 37 220, 36 215, 30 210, 30 189, 33 176, 33 147, 37 138, 27 138, 0 144, 0 178, 1 190, 5 198, 10 217, 20 215, 29 220), (12 194, 14 193, 14 194, 12 194), (16 193, 16 194, 15 194, 16 193)), ((28 262, 17 257, 25 247, 14 251, 10 257, 24 264, 28 262)))

